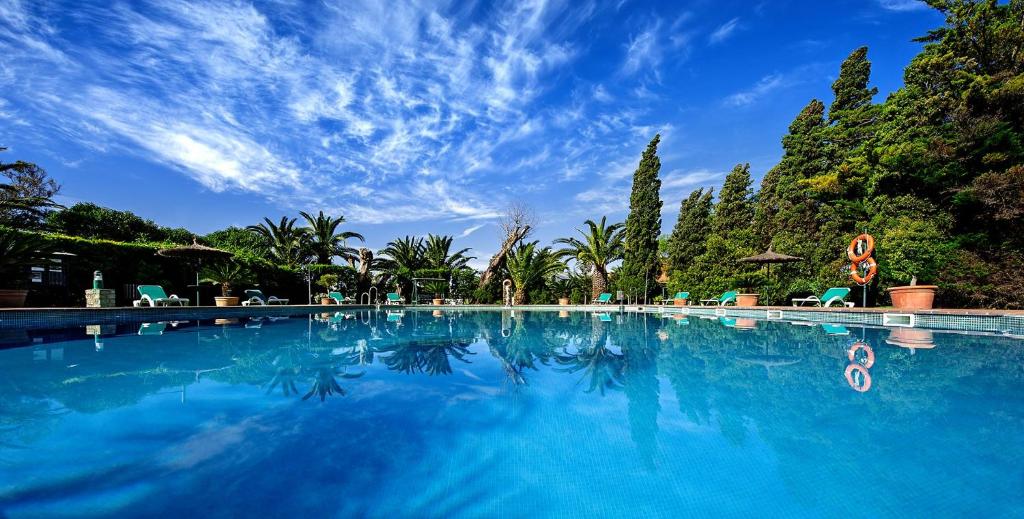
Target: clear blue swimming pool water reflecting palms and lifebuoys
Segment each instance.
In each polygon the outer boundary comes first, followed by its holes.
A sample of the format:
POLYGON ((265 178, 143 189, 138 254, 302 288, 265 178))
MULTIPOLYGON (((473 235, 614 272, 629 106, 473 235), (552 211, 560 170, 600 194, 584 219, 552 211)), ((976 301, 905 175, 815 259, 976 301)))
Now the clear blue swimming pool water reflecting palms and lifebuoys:
POLYGON ((0 517, 1024 516, 1010 338, 447 310, 0 340, 0 517))

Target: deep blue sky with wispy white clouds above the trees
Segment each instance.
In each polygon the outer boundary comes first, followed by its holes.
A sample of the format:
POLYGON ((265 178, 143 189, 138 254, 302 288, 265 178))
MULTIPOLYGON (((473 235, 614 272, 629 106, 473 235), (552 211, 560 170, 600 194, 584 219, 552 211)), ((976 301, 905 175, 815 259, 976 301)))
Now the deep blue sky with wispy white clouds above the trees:
POLYGON ((942 17, 918 0, 0 0, 0 161, 199 233, 324 210, 486 262, 626 218, 662 134, 664 230, 868 46, 882 100, 942 17))

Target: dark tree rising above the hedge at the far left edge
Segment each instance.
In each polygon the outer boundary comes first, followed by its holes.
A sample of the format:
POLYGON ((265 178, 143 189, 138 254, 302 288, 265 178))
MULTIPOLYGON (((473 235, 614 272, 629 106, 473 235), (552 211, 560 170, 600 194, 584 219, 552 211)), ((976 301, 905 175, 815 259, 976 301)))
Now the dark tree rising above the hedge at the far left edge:
MULTIPOLYGON (((6 149, 0 147, 0 152, 6 149)), ((60 207, 53 202, 60 185, 43 168, 23 161, 0 162, 0 174, 9 182, 0 183, 0 224, 39 227, 51 209, 60 207)))

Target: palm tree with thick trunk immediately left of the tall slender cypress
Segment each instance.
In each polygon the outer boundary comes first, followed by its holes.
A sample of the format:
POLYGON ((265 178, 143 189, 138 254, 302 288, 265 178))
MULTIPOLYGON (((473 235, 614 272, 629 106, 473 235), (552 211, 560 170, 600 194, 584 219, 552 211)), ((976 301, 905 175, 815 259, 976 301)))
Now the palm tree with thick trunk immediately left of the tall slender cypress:
POLYGON ((597 298, 608 288, 608 264, 623 259, 625 252, 623 223, 606 224, 607 217, 602 216, 600 223, 594 220, 584 222, 587 230, 579 229, 583 240, 578 237, 562 237, 555 240, 556 244, 565 245, 558 251, 560 258, 571 257, 581 265, 590 268, 592 273, 591 297, 597 298))

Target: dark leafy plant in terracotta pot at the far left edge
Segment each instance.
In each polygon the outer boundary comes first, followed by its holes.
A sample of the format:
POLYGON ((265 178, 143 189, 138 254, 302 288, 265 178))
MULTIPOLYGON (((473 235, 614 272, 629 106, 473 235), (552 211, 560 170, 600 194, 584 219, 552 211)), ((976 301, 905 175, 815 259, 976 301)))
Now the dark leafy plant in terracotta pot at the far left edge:
POLYGON ((36 234, 0 229, 0 307, 25 306, 28 269, 46 261, 50 245, 36 234))

